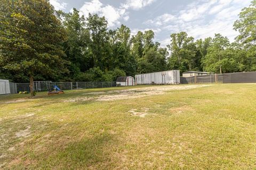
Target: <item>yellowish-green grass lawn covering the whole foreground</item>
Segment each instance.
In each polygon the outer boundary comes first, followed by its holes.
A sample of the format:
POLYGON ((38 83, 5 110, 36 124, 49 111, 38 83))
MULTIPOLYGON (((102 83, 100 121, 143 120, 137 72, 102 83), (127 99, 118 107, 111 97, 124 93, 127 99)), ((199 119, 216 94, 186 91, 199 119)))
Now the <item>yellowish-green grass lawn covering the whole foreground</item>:
POLYGON ((256 169, 256 84, 122 89, 0 96, 0 169, 256 169))

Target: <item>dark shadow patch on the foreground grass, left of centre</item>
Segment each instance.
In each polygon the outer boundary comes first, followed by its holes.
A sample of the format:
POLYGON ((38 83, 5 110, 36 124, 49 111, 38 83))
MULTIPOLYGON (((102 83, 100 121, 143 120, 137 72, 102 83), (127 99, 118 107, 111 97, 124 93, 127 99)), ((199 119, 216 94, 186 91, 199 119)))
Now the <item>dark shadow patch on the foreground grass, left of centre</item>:
POLYGON ((41 167, 57 168, 66 167, 68 169, 87 169, 95 167, 103 162, 107 163, 111 159, 111 147, 117 143, 113 134, 97 134, 93 138, 85 138, 81 141, 70 142, 65 149, 57 149, 57 154, 50 156, 41 167), (87 167, 87 168, 86 168, 87 167))

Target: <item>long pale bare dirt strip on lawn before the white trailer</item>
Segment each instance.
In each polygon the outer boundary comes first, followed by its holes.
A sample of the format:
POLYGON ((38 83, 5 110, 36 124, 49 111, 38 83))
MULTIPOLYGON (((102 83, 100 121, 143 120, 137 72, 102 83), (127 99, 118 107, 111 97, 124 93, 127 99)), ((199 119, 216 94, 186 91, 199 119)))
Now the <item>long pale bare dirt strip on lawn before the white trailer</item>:
MULTIPOLYGON (((125 90, 111 90, 106 92, 97 92, 97 94, 103 94, 100 96, 92 97, 77 97, 65 100, 64 102, 78 102, 78 101, 87 101, 87 100, 97 100, 97 101, 113 101, 113 100, 122 100, 122 99, 134 99, 141 98, 145 96, 152 95, 162 95, 166 94, 167 91, 171 90, 186 90, 200 88, 210 85, 187 85, 187 86, 154 86, 154 87, 145 87, 145 88, 135 88, 135 89, 125 89, 125 90)), ((96 94, 96 92, 88 93, 96 94)), ((86 94, 84 94, 86 95, 86 94)))

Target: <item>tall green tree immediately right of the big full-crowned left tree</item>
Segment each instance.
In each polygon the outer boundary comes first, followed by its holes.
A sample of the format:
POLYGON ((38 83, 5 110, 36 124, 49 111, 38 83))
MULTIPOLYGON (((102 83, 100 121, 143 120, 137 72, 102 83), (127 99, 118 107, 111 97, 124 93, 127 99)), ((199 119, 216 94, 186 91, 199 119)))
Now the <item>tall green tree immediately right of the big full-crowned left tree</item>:
POLYGON ((77 72, 84 72, 91 67, 92 58, 89 58, 87 47, 90 43, 90 32, 85 28, 84 16, 73 8, 72 13, 64 15, 63 25, 67 32, 67 41, 63 44, 67 60, 70 61, 70 76, 77 72))

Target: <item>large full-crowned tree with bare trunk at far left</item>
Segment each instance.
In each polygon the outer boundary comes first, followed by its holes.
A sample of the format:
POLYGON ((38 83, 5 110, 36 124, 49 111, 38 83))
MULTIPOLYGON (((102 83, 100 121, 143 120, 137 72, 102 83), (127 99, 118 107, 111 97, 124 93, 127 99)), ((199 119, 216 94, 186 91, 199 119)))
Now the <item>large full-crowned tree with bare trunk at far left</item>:
POLYGON ((53 78, 65 71, 65 35, 48 1, 1 1, 0 67, 28 75, 31 96, 35 75, 53 78))

